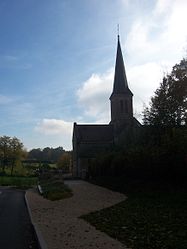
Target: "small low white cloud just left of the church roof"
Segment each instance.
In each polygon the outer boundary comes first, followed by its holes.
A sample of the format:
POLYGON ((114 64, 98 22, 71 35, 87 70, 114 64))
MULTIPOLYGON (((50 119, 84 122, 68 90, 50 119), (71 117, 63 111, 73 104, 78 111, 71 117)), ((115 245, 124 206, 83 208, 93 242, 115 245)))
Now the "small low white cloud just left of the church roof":
POLYGON ((44 135, 70 136, 72 134, 72 123, 59 119, 44 118, 37 124, 35 130, 44 135))

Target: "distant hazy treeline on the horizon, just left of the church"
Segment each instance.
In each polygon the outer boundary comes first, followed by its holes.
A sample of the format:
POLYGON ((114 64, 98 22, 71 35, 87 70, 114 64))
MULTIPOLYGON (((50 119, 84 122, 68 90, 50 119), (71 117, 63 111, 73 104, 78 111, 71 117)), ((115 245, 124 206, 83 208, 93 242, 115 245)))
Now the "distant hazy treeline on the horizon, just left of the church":
POLYGON ((30 150, 27 154, 27 159, 57 163, 64 153, 65 150, 63 149, 63 147, 46 147, 44 149, 38 148, 30 150))

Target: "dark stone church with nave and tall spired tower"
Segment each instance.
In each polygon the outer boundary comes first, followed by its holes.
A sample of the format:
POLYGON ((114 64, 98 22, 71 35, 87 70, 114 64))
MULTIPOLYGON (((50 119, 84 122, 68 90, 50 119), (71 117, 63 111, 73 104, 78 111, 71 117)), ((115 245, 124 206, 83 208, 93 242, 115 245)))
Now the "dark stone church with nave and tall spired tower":
POLYGON ((141 124, 133 117, 133 93, 129 89, 118 35, 109 124, 77 124, 73 127, 73 175, 86 178, 89 163, 99 153, 125 142, 125 137, 141 124))

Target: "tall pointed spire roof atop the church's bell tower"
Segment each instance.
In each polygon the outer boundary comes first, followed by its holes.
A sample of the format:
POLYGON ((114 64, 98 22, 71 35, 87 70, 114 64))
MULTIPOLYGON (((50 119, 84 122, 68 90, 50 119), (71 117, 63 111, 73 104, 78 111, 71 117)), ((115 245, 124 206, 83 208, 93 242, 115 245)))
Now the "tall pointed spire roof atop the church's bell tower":
POLYGON ((113 94, 132 94, 128 87, 125 66, 123 62, 123 55, 121 51, 121 45, 118 35, 118 45, 117 45, 117 54, 116 54, 116 65, 115 65, 115 75, 114 75, 114 84, 113 84, 113 94))

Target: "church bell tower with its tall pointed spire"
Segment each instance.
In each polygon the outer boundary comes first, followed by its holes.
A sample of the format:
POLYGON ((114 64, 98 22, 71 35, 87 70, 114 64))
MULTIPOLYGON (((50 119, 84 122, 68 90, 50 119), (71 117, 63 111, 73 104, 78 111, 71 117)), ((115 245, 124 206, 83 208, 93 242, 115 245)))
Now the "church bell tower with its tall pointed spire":
POLYGON ((122 129, 133 126, 133 94, 128 87, 120 39, 118 35, 117 55, 113 91, 110 96, 111 124, 114 125, 115 133, 122 129))

